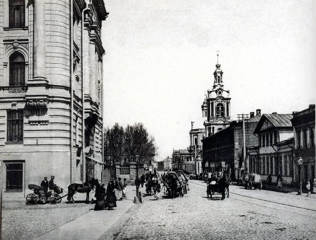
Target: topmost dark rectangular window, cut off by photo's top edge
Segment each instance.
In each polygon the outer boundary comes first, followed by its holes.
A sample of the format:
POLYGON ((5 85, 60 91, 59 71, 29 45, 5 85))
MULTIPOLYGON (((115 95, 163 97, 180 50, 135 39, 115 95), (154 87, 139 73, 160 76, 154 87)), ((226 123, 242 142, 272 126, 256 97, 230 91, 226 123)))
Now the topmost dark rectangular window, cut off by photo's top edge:
POLYGON ((9 0, 9 28, 25 26, 25 1, 9 0))

